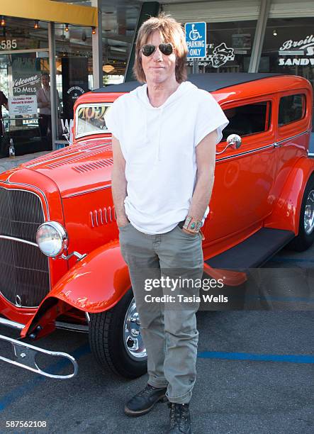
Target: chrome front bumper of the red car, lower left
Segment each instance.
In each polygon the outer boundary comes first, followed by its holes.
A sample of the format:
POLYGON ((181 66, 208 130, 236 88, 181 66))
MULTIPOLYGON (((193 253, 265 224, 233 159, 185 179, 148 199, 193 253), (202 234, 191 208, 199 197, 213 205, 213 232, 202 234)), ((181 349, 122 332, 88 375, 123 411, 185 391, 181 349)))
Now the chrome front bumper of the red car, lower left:
POLYGON ((9 338, 8 336, 4 335, 0 335, 0 340, 5 340, 6 342, 11 343, 14 350, 14 359, 8 359, 0 355, 0 360, 3 360, 4 362, 11 363, 11 365, 23 367, 24 369, 35 372, 36 374, 40 374, 44 377, 54 379, 69 379, 77 375, 79 369, 77 361, 74 359, 74 357, 72 357, 72 355, 69 355, 66 352, 44 350, 43 348, 35 347, 34 345, 21 342, 21 340, 9 338), (74 368, 72 374, 56 375, 43 371, 42 369, 40 369, 40 367, 38 367, 35 360, 35 356, 38 352, 42 352, 43 354, 50 355, 52 357, 63 357, 64 359, 69 360, 74 368))

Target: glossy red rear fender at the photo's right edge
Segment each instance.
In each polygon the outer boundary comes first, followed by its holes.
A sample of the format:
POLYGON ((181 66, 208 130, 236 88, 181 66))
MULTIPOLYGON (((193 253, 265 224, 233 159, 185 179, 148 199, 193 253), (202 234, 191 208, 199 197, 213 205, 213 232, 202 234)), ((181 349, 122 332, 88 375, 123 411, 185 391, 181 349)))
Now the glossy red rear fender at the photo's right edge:
POLYGON ((291 170, 265 228, 293 230, 298 235, 300 210, 306 183, 314 172, 314 160, 302 157, 291 170))

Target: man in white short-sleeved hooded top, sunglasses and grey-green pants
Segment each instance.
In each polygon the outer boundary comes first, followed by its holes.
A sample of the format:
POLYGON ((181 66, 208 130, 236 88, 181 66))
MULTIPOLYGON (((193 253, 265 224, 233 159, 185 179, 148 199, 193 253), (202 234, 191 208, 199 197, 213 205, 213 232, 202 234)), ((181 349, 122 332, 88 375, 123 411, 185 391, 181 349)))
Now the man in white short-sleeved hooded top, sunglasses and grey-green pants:
MULTIPOLYGON (((142 24, 134 72, 144 82, 108 113, 113 134, 112 191, 120 249, 128 264, 149 379, 125 406, 141 416, 169 400, 169 433, 191 433, 189 401, 196 379, 194 308, 145 302, 145 277, 203 273, 200 228, 208 214, 215 145, 228 124, 208 92, 186 82, 184 30, 163 14, 142 24)), ((169 289, 169 288, 168 288, 169 289)), ((165 294, 160 287, 154 296, 165 294)), ((189 288, 190 294, 198 294, 189 288)))

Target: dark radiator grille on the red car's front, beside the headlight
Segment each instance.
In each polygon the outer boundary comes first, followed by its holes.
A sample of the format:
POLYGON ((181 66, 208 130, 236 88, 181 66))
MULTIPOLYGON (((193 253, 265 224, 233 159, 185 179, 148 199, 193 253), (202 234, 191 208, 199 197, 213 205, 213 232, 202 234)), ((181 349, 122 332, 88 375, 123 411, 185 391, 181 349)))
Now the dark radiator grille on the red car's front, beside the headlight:
POLYGON ((35 243, 44 221, 36 194, 0 187, 0 292, 13 304, 36 307, 50 289, 48 258, 38 247, 23 243, 35 243))

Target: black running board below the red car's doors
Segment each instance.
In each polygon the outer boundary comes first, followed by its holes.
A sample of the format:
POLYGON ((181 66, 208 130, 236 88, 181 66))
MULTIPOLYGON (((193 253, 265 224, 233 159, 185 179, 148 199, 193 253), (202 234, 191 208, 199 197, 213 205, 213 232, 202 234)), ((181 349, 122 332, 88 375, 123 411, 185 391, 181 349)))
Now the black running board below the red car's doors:
POLYGON ((261 228, 242 243, 205 262, 212 268, 245 272, 248 268, 262 267, 295 236, 292 230, 261 228))

